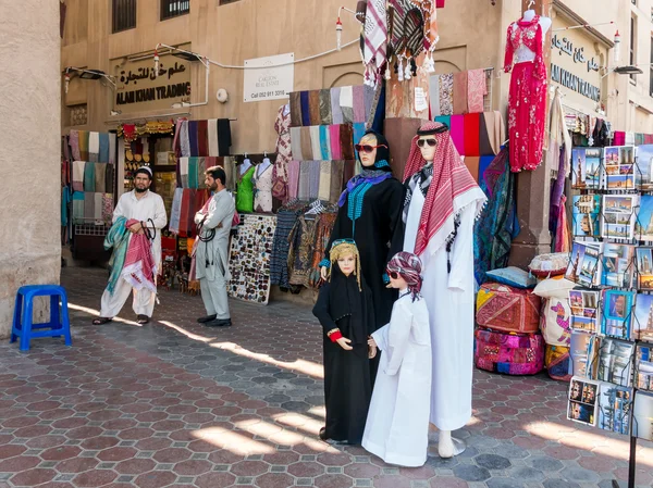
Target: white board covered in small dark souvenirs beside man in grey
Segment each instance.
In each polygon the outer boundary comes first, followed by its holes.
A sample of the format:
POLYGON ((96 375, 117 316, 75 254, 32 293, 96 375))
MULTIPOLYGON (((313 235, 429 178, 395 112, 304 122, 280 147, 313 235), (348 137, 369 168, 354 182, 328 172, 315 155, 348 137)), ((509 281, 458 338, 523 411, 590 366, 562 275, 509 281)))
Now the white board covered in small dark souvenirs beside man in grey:
POLYGON ((229 295, 238 300, 267 304, 276 216, 243 215, 241 221, 230 249, 229 295))

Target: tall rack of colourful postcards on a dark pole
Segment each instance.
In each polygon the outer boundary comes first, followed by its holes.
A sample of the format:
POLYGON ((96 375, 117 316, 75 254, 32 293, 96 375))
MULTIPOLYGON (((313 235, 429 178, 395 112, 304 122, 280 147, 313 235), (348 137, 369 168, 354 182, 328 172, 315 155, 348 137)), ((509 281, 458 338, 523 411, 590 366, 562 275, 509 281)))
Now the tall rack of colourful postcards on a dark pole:
POLYGON ((653 440, 653 146, 574 148, 567 417, 653 440))

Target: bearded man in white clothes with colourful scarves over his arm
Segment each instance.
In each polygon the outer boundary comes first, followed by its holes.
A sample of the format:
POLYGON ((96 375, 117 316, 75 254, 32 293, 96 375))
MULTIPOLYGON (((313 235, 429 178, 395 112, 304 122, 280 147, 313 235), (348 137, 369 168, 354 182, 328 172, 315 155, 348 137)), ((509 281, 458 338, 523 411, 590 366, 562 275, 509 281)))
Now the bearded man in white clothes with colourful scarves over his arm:
MULTIPOLYGON (((149 190, 151 184, 152 171, 148 166, 143 166, 136 171, 134 189, 120 197, 118 205, 113 210, 113 223, 120 217, 125 217, 127 221, 133 218, 138 223, 128 228, 130 233, 144 234, 147 230, 149 234, 155 234, 151 241, 151 252, 156 265, 156 277, 157 270, 161 267, 161 229, 165 227, 168 216, 163 199, 149 190)), ((115 284, 113 292, 109 291, 108 288, 104 289, 100 316, 96 317, 93 323, 100 325, 111 322, 120 313, 132 292, 134 293, 132 308, 136 313, 136 320, 139 324, 147 324, 152 316, 157 295, 147 288, 135 289, 122 277, 115 284)))

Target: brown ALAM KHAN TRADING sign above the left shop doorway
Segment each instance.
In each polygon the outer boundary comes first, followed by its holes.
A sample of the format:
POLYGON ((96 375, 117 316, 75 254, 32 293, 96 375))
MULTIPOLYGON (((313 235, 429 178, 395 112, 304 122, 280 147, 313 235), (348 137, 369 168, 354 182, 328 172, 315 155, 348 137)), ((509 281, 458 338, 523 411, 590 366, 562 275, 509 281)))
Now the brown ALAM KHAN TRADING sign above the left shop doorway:
POLYGON ((151 58, 116 64, 115 107, 123 113, 170 109, 190 101, 190 62, 161 57, 159 73, 151 58))

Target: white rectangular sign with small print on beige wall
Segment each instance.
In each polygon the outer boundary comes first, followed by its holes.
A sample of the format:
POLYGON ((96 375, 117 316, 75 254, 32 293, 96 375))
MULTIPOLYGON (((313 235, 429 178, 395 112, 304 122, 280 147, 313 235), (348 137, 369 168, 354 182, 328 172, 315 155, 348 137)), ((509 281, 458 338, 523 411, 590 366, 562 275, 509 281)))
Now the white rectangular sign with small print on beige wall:
POLYGON ((294 61, 292 52, 245 61, 244 100, 259 102, 288 98, 295 85, 294 61))

